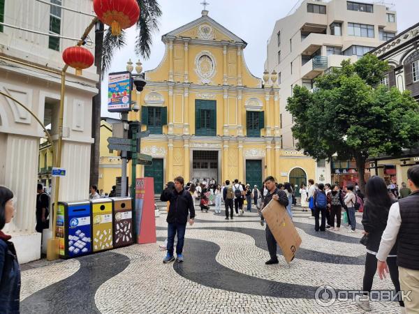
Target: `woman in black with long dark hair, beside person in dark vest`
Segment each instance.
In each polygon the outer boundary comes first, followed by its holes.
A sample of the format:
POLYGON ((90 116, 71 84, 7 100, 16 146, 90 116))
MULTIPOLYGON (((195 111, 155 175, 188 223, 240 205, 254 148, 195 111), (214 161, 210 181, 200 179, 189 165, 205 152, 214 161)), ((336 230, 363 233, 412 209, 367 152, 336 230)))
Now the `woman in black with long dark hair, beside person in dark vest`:
MULTIPOLYGON (((362 213, 362 225, 364 226, 364 238, 367 248, 367 256, 365 257, 365 273, 362 282, 362 291, 371 292, 372 282, 377 269, 376 254, 380 247, 381 236, 387 226, 388 212, 394 202, 388 195, 385 181, 380 177, 371 177, 365 186, 365 204, 362 213)), ((399 270, 397 268, 397 241, 390 251, 387 258, 388 270, 396 292, 400 291, 399 270)), ((358 297, 358 296, 357 296, 358 297)), ((371 311, 369 300, 355 299, 356 303, 364 311, 371 311)), ((404 307, 403 301, 399 301, 399 305, 404 307)), ((402 308, 404 309, 404 308, 402 308)), ((404 311, 402 311, 404 313, 404 311)))

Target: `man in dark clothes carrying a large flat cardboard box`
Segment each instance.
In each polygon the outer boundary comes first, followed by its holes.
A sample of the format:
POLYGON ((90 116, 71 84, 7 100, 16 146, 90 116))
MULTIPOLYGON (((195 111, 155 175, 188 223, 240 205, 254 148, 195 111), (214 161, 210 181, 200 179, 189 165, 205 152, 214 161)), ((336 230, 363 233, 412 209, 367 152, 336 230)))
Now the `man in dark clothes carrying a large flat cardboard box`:
MULTIPOLYGON (((269 204, 269 202, 274 199, 279 202, 284 207, 288 205, 288 197, 284 190, 279 190, 275 185, 274 177, 270 176, 265 179, 265 186, 267 188, 267 195, 263 200, 263 208, 269 204)), ((263 209, 262 208, 262 209, 263 209)), ((265 262, 265 264, 278 264, 278 257, 277 257, 277 240, 275 240, 274 235, 270 231, 269 226, 266 224, 266 243, 267 243, 267 250, 269 251, 270 260, 265 262)))

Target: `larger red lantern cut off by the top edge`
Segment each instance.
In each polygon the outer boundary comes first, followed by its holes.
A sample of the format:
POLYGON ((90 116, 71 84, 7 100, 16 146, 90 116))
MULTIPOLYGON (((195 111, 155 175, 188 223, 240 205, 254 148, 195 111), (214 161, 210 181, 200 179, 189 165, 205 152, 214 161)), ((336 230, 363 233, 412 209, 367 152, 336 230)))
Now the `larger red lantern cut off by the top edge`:
POLYGON ((118 36, 121 29, 132 27, 140 17, 135 0, 94 0, 93 8, 99 20, 111 27, 113 36, 118 36))

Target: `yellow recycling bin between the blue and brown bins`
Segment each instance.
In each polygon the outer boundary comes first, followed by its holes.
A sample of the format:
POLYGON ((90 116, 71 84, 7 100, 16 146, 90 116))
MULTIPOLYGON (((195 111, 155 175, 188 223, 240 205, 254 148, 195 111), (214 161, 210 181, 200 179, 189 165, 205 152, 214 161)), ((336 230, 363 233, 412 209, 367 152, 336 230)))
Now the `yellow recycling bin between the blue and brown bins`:
POLYGON ((110 250, 112 248, 112 200, 99 198, 90 202, 93 252, 110 250))

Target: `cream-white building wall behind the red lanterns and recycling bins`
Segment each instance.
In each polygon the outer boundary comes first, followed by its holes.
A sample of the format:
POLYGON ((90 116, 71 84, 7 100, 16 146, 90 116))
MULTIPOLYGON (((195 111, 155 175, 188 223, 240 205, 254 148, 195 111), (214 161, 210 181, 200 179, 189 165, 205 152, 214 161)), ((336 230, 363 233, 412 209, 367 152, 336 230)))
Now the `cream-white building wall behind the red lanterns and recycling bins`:
MULTIPOLYGON (((63 5, 86 13, 93 11, 92 0, 63 1, 63 5)), ((61 35, 80 38, 93 17, 61 10, 61 35)), ((6 1, 5 23, 48 33, 50 6, 38 1, 6 1)), ((29 61, 37 66, 61 70, 61 54, 73 40, 60 40, 60 51, 48 48, 48 36, 3 27, 0 53, 6 57, 29 61)), ((94 40, 94 29, 89 34, 94 40)), ((84 46, 94 54, 94 43, 84 46)), ((66 177, 61 179, 59 200, 82 200, 88 196, 90 172, 91 98, 97 94, 96 67, 84 70, 81 77, 68 68, 64 101, 64 134, 61 166, 66 177)), ((10 61, 0 61, 0 91, 20 100, 41 121, 45 117, 45 100, 53 103, 52 137, 57 143, 58 109, 61 77, 10 61)), ((12 235, 20 263, 36 260, 41 255, 41 234, 36 225, 36 184, 38 152, 43 130, 36 120, 17 105, 0 95, 0 184, 8 186, 17 197, 16 215, 6 225, 12 235)), ((56 146, 56 145, 55 145, 56 146)), ((52 186, 54 190, 54 186, 52 186)), ((53 200, 54 195, 51 195, 53 200)), ((52 207, 51 207, 52 209, 52 207)), ((46 234, 50 236, 50 234, 46 234)), ((44 240, 47 237, 44 237, 44 240)))

